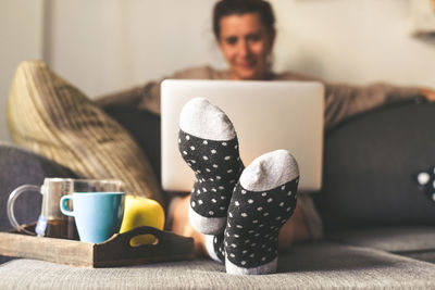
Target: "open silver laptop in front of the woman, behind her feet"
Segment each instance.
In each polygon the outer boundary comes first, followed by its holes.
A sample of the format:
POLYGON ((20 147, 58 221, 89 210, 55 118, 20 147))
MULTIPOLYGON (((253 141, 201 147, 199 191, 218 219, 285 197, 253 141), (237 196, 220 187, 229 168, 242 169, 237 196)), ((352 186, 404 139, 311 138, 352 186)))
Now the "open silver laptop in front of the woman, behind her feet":
POLYGON ((248 166, 256 157, 288 150, 299 165, 299 191, 322 186, 324 87, 318 81, 166 79, 161 85, 162 188, 190 191, 195 174, 178 151, 183 105, 202 97, 223 110, 248 166))

